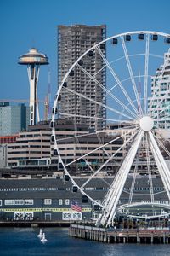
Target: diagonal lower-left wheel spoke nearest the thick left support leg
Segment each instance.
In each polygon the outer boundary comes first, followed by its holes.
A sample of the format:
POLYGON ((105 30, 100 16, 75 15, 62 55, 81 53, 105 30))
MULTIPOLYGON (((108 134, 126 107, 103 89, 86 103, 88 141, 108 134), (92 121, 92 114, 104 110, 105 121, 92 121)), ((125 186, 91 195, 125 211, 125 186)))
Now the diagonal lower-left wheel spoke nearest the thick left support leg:
POLYGON ((90 182, 90 180, 92 180, 92 179, 107 165, 107 163, 109 163, 109 162, 116 156, 116 154, 117 154, 122 148, 124 148, 124 147, 127 145, 127 143, 129 143, 129 141, 133 139, 133 137, 135 137, 135 136, 137 135, 138 131, 139 131, 139 130, 136 129, 136 132, 134 132, 134 134, 132 135, 132 137, 130 137, 129 139, 127 139, 127 141, 126 141, 125 143, 123 143, 122 146, 121 146, 119 149, 117 149, 116 152, 115 152, 114 154, 112 154, 111 157, 110 157, 108 160, 106 160, 105 163, 104 163, 102 166, 100 166, 99 169, 98 169, 92 176, 90 176, 90 177, 88 178, 88 180, 87 180, 85 183, 82 184, 81 189, 83 189, 83 188, 90 182))

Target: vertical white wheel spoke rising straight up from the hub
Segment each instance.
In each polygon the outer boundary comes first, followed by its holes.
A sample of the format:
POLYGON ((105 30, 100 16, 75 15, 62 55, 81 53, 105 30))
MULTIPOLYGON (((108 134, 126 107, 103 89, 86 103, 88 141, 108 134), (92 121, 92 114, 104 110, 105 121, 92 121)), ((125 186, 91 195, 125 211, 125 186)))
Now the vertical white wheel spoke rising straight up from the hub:
POLYGON ((147 113, 147 101, 148 101, 148 66, 149 66, 149 46, 150 37, 146 35, 146 47, 145 47, 145 64, 144 64, 144 114, 147 113))

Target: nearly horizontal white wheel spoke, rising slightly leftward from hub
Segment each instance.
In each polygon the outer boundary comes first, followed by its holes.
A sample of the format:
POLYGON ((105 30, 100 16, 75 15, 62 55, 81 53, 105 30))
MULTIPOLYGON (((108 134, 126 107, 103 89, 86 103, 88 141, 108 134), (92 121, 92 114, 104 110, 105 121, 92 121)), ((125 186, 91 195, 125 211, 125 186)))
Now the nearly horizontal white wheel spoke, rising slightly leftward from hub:
POLYGON ((76 113, 61 113, 61 112, 56 112, 56 114, 59 115, 65 115, 68 117, 78 117, 78 118, 83 118, 83 119, 98 119, 98 120, 105 120, 105 121, 111 121, 113 123, 129 123, 131 124, 132 121, 128 121, 128 120, 120 120, 120 119, 105 119, 105 118, 99 118, 96 116, 88 116, 88 115, 82 115, 82 114, 76 114, 76 113))

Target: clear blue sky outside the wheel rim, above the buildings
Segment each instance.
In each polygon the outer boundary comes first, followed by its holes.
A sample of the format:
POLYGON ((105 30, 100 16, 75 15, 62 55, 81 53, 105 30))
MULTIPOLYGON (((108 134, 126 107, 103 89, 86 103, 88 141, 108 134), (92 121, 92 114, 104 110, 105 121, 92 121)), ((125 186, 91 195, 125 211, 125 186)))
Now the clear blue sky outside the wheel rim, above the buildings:
MULTIPOLYGON (((38 97, 48 92, 51 73, 51 101, 57 91, 57 26, 106 24, 107 37, 121 32, 152 30, 170 33, 169 0, 1 0, 0 1, 0 100, 29 99, 25 66, 20 55, 36 47, 48 55, 41 67, 38 97)), ((42 113, 41 113, 42 114, 42 113)))

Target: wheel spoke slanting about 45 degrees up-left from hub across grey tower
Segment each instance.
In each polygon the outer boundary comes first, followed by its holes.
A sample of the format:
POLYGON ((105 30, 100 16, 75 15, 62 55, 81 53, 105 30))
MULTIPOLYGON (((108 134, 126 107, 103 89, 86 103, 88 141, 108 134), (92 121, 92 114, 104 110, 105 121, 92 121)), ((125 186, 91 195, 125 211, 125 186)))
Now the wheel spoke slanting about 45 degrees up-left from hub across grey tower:
POLYGON ((77 66, 80 67, 81 70, 82 70, 82 72, 84 72, 86 75, 88 75, 88 77, 89 77, 90 79, 92 79, 96 84, 98 84, 101 89, 105 90, 106 94, 109 95, 109 96, 111 96, 111 98, 112 98, 115 102, 117 102, 122 108, 125 108, 128 113, 130 113, 131 115, 133 115, 134 117, 136 117, 135 113, 133 113, 130 109, 128 109, 128 108, 126 107, 126 105, 125 105, 122 101, 120 101, 116 96, 114 96, 114 95, 111 93, 110 90, 106 89, 103 84, 100 84, 99 81, 94 78, 94 76, 92 76, 90 73, 88 73, 88 72, 87 72, 83 67, 81 67, 79 64, 77 64, 77 66))

